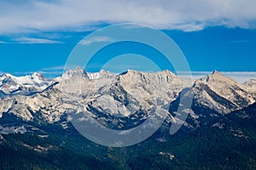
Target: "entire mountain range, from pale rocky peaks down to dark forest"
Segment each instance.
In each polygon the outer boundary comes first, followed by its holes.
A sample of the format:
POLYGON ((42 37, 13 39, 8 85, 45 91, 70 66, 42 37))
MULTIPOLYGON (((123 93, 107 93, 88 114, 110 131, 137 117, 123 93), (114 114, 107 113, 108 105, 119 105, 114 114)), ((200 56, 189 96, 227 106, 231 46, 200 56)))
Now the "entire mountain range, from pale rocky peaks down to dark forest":
POLYGON ((40 73, 3 74, 0 98, 3 169, 256 168, 256 80, 241 84, 218 71, 193 80, 167 70, 116 75, 77 67, 53 79, 40 73), (172 124, 182 122, 182 99, 191 101, 183 108, 188 116, 171 135, 172 124), (70 121, 73 112, 83 113, 124 130, 143 123, 156 107, 166 111, 162 126, 149 139, 125 148, 94 144, 70 121), (11 156, 17 165, 10 163, 11 156))

